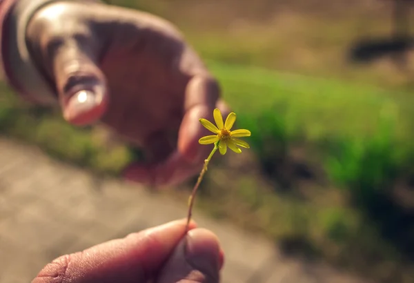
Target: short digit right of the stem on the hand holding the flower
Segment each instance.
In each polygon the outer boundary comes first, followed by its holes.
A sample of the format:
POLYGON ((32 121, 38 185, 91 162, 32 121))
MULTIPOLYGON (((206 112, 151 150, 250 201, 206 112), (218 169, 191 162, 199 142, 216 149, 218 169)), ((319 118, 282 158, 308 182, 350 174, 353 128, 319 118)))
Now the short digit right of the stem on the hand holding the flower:
POLYGON ((197 228, 181 240, 161 270, 157 283, 217 283, 222 253, 217 236, 197 228))

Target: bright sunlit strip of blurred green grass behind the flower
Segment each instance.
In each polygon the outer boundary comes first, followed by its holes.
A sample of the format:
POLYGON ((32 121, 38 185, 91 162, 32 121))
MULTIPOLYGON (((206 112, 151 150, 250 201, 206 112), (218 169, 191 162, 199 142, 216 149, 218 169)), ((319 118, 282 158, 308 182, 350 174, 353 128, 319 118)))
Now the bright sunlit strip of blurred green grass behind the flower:
POLYGON ((260 68, 209 66, 235 110, 257 115, 263 109, 282 108, 288 131, 301 128, 306 139, 371 135, 383 117, 395 121, 398 137, 408 139, 412 135, 409 129, 414 114, 407 107, 413 100, 410 92, 260 68))

